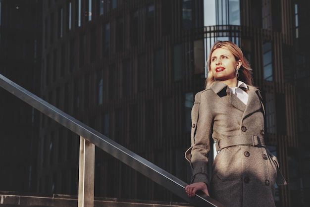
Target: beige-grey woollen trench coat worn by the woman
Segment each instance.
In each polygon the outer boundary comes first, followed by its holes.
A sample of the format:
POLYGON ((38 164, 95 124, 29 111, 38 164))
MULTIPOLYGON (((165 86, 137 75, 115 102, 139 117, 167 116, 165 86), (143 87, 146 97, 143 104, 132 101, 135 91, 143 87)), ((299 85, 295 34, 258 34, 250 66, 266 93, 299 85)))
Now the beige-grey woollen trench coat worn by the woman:
POLYGON ((286 181, 277 158, 264 145, 264 106, 259 90, 248 87, 247 105, 218 81, 196 94, 191 147, 185 157, 192 167, 192 182, 207 183, 210 196, 225 206, 273 207, 275 182, 283 185, 286 181), (210 138, 217 142, 220 153, 208 183, 210 138))

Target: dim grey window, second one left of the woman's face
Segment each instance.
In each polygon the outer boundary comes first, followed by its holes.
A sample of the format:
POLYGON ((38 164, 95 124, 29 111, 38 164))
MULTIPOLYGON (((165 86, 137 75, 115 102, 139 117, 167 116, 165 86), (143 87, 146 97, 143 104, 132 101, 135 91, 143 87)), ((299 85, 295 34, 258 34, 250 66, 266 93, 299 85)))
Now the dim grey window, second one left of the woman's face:
POLYGON ((180 81, 183 79, 183 50, 182 45, 175 45, 173 47, 173 72, 174 81, 180 81))

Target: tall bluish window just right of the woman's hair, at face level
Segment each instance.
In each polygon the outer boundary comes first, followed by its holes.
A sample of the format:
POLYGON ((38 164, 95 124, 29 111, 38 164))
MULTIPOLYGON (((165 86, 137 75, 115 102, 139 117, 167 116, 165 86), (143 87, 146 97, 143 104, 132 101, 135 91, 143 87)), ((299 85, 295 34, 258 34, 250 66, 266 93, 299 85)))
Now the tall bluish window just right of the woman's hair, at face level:
POLYGON ((272 50, 270 42, 263 44, 263 68, 264 80, 272 81, 272 50))

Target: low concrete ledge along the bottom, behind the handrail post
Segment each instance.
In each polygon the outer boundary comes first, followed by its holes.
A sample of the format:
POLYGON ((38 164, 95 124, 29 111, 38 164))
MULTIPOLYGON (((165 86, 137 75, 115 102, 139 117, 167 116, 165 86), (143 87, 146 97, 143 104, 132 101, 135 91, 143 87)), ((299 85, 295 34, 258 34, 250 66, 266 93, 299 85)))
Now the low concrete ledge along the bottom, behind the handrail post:
MULTIPOLYGON (((187 203, 141 201, 117 198, 94 198, 94 207, 192 207, 187 203)), ((0 207, 77 207, 78 197, 52 194, 21 194, 0 191, 0 207)))

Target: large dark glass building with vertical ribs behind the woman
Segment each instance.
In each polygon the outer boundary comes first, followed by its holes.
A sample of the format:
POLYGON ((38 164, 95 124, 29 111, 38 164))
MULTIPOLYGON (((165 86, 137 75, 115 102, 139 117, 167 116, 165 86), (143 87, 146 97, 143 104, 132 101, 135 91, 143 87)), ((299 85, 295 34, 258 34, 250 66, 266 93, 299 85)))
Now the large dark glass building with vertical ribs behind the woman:
MULTIPOLYGON (((194 95, 204 89, 207 55, 217 40, 236 43, 263 95, 266 144, 289 183, 276 188, 276 204, 310 203, 310 104, 305 97, 310 88, 309 3, 42 4, 41 98, 186 182, 191 180, 184 158, 190 146, 191 107, 194 95)), ((37 191, 77 194, 78 135, 44 115, 38 123, 37 191)), ((99 149, 95 196, 180 201, 99 149)))

